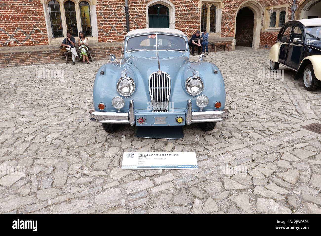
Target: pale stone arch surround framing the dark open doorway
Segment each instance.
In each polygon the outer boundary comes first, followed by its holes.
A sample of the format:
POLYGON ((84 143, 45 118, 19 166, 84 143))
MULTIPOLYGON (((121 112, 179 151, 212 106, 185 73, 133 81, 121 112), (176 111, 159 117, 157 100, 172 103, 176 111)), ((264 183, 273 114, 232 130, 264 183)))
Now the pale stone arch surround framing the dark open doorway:
MULTIPOLYGON (((236 11, 236 16, 235 16, 234 35, 236 35, 236 27, 239 24, 237 22, 237 15, 238 15, 239 11, 245 7, 247 7, 249 10, 251 10, 254 15, 254 18, 252 18, 253 19, 252 47, 259 48, 263 7, 258 2, 254 1, 254 0, 248 0, 239 6, 238 10, 236 11)), ((242 11, 248 11, 248 10, 242 10, 242 11)), ((239 19, 239 21, 240 20, 243 21, 243 19, 239 19)), ((236 45, 239 45, 237 40, 236 40, 236 45)))

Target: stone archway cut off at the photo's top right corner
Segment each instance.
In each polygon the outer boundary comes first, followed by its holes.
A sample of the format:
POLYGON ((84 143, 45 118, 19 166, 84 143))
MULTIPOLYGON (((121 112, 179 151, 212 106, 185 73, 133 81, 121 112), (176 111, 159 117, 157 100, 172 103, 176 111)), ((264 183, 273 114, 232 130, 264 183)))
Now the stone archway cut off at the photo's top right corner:
POLYGON ((321 18, 321 0, 302 1, 294 14, 295 20, 321 18))

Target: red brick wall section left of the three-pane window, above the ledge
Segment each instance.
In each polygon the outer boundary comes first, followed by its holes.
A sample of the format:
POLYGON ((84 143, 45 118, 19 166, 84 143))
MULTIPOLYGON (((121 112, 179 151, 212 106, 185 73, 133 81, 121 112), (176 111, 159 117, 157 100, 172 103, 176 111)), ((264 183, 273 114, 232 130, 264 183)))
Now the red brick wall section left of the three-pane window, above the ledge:
POLYGON ((48 44, 40 0, 0 0, 0 46, 48 44))

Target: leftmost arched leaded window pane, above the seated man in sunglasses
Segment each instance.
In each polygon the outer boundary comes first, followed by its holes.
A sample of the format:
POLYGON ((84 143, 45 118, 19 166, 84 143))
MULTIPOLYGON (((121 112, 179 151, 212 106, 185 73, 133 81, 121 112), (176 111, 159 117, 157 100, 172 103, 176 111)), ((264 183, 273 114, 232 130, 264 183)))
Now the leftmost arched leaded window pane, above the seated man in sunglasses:
POLYGON ((64 33, 61 25, 61 14, 59 3, 55 0, 51 0, 48 3, 48 13, 50 15, 50 23, 52 30, 52 37, 64 37, 64 33))

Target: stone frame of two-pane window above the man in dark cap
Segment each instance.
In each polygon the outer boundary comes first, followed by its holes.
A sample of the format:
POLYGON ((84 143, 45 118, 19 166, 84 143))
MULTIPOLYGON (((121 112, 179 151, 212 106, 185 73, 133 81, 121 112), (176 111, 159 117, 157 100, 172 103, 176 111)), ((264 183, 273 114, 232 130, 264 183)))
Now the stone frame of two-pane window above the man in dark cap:
POLYGON ((206 21, 206 31, 209 36, 221 36, 221 20, 222 20, 222 8, 224 7, 224 3, 222 0, 200 0, 198 3, 199 13, 200 13, 200 29, 202 23, 202 6, 207 6, 207 21, 206 21), (210 9, 211 6, 214 5, 216 7, 216 18, 215 18, 215 30, 216 32, 210 32, 210 9))

